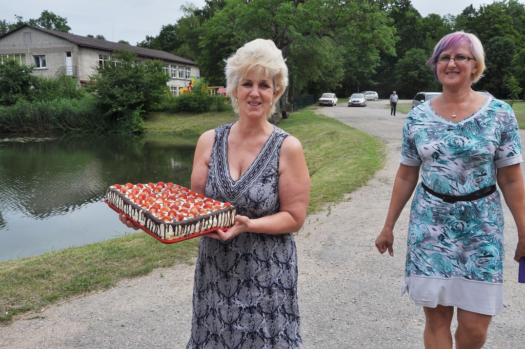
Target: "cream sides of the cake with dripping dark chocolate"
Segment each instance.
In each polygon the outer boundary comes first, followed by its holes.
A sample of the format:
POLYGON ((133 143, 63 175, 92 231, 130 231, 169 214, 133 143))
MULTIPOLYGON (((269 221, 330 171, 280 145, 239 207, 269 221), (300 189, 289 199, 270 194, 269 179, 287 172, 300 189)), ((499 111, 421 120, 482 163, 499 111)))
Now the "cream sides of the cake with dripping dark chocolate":
POLYGON ((235 223, 236 211, 233 206, 197 215, 194 218, 185 218, 182 221, 165 222, 155 217, 154 213, 133 203, 131 199, 128 199, 117 188, 108 188, 106 200, 144 228, 165 240, 187 237, 190 234, 212 228, 227 228, 235 223))

